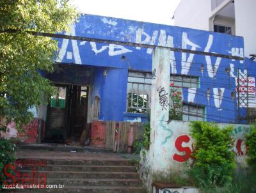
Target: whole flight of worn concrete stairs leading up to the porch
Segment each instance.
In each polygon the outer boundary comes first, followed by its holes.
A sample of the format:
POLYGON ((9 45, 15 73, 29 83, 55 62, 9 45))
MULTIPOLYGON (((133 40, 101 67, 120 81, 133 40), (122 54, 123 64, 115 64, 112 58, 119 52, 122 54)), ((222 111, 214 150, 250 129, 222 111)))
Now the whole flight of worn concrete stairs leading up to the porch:
POLYGON ((46 177, 47 185, 64 185, 64 189, 26 189, 15 192, 146 192, 131 160, 116 154, 29 152, 20 154, 16 162, 19 182, 22 182, 24 174, 29 180, 28 184, 31 181, 39 183, 40 179, 44 181, 46 177), (44 174, 42 178, 40 174, 44 174))

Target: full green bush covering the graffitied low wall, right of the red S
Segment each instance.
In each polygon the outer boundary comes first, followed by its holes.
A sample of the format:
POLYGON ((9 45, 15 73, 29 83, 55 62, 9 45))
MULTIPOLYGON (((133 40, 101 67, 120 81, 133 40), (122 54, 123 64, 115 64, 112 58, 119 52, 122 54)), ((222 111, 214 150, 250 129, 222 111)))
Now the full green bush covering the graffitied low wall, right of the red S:
POLYGON ((232 181, 235 154, 232 151, 234 139, 232 127, 220 128, 216 123, 195 121, 191 123, 191 136, 195 139, 192 155, 195 157, 188 174, 196 186, 217 189, 232 181))

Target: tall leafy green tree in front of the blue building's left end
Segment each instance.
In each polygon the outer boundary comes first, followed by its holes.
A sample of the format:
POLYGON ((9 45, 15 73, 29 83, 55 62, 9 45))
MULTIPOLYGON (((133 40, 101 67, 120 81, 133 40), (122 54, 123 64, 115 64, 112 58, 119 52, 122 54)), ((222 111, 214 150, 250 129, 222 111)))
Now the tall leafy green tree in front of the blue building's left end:
POLYGON ((20 130, 31 121, 28 109, 40 105, 53 91, 40 73, 53 70, 57 41, 29 31, 68 31, 78 16, 68 0, 0 1, 0 130, 6 130, 11 121, 20 130))

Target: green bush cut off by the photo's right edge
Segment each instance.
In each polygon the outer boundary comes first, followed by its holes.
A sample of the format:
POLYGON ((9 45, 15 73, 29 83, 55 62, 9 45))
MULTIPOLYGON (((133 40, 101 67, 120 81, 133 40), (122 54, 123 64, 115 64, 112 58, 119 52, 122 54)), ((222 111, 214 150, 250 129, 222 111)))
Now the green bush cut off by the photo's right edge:
POLYGON ((249 166, 256 169, 256 125, 253 125, 250 133, 246 135, 246 145, 248 147, 247 162, 249 166))

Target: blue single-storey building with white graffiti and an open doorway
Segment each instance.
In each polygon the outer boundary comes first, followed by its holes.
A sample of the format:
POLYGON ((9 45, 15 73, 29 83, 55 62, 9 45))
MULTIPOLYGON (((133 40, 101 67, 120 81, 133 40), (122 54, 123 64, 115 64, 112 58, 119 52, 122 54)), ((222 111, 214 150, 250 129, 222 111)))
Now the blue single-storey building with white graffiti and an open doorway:
POLYGON ((57 38, 55 71, 46 77, 59 91, 47 127, 70 125, 67 135, 93 120, 147 121, 153 49, 132 43, 198 51, 173 51, 170 60, 170 84, 182 92, 182 120, 238 123, 248 115, 246 107, 256 106, 255 62, 239 60, 240 36, 96 15, 82 15, 65 35, 81 40, 57 38))

